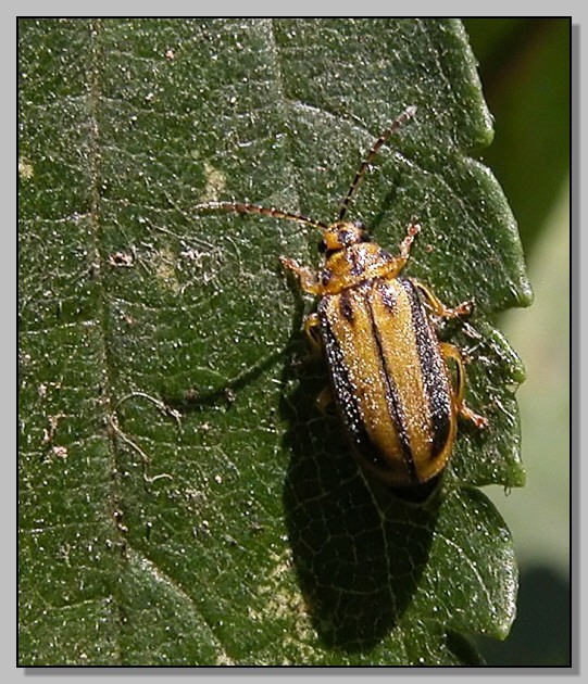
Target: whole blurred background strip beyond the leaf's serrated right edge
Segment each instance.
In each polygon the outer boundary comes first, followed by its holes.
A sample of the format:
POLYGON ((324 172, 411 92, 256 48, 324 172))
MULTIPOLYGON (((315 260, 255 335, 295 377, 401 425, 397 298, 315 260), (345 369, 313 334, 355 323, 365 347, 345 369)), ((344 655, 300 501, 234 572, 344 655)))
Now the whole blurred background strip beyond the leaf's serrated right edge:
POLYGON ((525 245, 535 303, 500 327, 527 380, 517 397, 527 484, 489 494, 521 562, 517 619, 489 664, 571 663, 570 585, 570 18, 466 20, 496 137, 496 173, 525 245))

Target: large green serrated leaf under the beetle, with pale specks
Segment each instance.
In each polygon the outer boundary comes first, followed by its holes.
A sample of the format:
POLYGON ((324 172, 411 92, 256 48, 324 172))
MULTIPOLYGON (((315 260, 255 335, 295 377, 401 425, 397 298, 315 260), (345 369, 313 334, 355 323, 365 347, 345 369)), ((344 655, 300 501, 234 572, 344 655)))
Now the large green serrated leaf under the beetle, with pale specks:
POLYGON ((523 482, 491 328, 530 290, 461 24, 20 21, 20 663, 467 664, 503 638, 512 541, 473 485, 523 482), (474 296, 471 405, 442 484, 368 484, 305 363, 278 257, 351 214, 448 303, 474 296))

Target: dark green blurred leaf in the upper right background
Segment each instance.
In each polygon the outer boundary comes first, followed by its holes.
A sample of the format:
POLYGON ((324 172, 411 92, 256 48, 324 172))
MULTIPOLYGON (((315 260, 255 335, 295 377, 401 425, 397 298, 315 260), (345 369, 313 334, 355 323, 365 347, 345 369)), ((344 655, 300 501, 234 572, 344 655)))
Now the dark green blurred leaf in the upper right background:
POLYGON ((495 140, 484 162, 504 189, 525 253, 570 175, 570 18, 466 20, 495 140))

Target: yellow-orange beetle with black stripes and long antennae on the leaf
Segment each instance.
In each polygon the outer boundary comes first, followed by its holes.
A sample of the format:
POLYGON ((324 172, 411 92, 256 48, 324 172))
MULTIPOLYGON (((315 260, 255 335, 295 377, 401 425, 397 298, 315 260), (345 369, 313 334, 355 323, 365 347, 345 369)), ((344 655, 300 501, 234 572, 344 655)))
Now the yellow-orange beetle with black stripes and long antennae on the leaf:
POLYGON ((361 221, 346 220, 370 164, 415 111, 414 106, 404 110, 371 147, 333 224, 248 202, 197 206, 198 211, 260 214, 322 231, 324 263, 317 274, 291 258, 280 261, 304 292, 318 297, 304 328, 326 356, 330 391, 352 452, 364 468, 392 487, 426 483, 443 470, 459 416, 477 428, 488 425, 465 403, 461 351, 439 341, 433 325, 433 315, 467 316, 473 303, 448 307, 424 283, 401 276, 421 226, 411 219, 393 256, 371 241, 361 221), (455 367, 454 379, 448 362, 455 367))

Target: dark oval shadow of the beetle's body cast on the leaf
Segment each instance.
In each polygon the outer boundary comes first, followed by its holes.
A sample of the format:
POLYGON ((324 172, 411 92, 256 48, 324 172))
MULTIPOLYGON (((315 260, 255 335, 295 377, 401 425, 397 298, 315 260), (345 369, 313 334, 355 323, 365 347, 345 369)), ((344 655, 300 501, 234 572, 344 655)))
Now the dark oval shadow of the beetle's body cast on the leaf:
MULTIPOLYGON (((288 385, 292 369, 285 366, 288 385)), ((436 491, 413 503, 367 480, 337 416, 316 397, 327 380, 321 364, 298 368, 284 396, 291 457, 284 506, 292 557, 314 628, 349 651, 374 647, 398 624, 418 588, 435 529, 436 491)))

